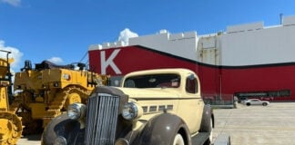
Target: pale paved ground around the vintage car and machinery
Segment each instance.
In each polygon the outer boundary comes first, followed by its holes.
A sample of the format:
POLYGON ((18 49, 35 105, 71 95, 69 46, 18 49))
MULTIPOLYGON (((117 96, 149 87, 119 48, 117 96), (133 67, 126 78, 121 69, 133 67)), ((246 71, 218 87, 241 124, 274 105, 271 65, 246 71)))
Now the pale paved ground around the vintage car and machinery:
MULTIPOLYGON (((229 134, 231 145, 295 145, 295 102, 269 106, 215 109, 213 140, 229 134)), ((26 136, 17 145, 40 145, 40 135, 26 136)))

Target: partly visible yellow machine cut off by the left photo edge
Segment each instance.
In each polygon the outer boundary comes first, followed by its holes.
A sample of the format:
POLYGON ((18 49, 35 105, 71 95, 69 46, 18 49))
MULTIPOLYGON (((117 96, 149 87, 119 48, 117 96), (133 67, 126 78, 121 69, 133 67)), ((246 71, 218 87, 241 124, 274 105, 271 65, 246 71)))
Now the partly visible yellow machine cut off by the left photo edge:
POLYGON ((10 73, 10 63, 14 59, 7 57, 0 58, 0 145, 16 144, 21 137, 23 126, 21 118, 15 115, 15 112, 9 111, 9 100, 12 100, 12 74, 10 73))

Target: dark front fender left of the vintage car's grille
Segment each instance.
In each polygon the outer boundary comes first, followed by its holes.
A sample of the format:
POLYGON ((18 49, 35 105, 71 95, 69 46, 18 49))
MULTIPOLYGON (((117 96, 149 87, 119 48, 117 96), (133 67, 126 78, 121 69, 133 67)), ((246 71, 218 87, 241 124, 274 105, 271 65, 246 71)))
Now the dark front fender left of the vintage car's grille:
POLYGON ((63 136, 67 144, 79 144, 83 142, 84 131, 80 130, 78 121, 73 121, 67 114, 61 114, 50 121, 42 134, 41 143, 44 145, 54 144, 57 136, 63 136))

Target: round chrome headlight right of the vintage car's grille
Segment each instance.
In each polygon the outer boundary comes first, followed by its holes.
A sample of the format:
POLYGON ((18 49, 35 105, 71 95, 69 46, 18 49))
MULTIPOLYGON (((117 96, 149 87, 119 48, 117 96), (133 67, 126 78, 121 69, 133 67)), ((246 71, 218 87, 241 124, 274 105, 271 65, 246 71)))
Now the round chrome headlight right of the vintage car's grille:
POLYGON ((127 102, 124 105, 122 116, 127 121, 132 121, 142 116, 143 110, 136 102, 127 102))

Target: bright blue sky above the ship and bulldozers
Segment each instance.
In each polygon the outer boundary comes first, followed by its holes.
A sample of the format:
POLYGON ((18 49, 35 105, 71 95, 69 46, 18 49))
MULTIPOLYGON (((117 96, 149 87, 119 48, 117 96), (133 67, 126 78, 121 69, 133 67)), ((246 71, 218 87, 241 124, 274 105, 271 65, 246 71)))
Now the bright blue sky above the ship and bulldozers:
POLYGON ((18 72, 25 60, 79 62, 90 44, 116 42, 126 28, 139 36, 212 34, 235 24, 278 25, 294 7, 290 0, 0 0, 0 49, 13 52, 18 72))

